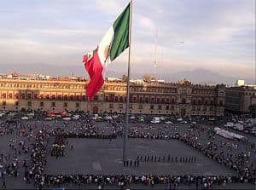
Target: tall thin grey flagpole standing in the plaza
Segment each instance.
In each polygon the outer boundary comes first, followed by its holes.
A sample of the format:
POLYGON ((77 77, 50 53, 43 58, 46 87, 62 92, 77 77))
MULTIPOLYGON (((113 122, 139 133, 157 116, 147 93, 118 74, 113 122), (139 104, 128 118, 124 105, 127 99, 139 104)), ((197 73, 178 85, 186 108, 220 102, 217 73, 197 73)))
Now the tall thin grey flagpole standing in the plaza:
POLYGON ((130 109, 130 60, 131 60, 131 14, 132 14, 132 0, 130 1, 130 23, 129 23, 129 55, 128 55, 128 73, 127 73, 127 89, 126 89, 126 110, 125 110, 125 126, 124 126, 124 147, 123 147, 123 161, 127 159, 127 141, 129 128, 129 109, 130 109))

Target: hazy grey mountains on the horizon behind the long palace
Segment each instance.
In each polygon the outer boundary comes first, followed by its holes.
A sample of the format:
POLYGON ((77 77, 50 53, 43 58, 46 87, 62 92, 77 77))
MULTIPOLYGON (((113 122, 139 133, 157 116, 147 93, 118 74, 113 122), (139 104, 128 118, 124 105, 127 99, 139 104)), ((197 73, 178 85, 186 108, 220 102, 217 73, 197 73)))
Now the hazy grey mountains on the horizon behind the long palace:
MULTIPOLYGON (((74 76, 84 76, 88 77, 87 73, 84 71, 84 66, 82 65, 49 65, 49 64, 16 64, 16 65, 0 65, 0 74, 7 74, 11 72, 18 72, 20 74, 44 74, 50 76, 70 76, 72 73, 74 76)), ((121 78, 124 74, 123 68, 117 67, 116 70, 111 72, 107 71, 107 76, 121 78)), ((142 78, 143 75, 148 73, 132 73, 132 78, 142 78)), ((150 74, 150 73, 149 73, 150 74)), ((154 76, 154 74, 151 74, 154 76)), ((183 71, 175 73, 162 73, 161 78, 170 81, 177 82, 183 78, 187 78, 192 83, 225 83, 227 85, 233 85, 236 83, 238 78, 224 76, 218 72, 212 72, 204 68, 197 68, 193 71, 183 71)), ((244 79, 246 83, 253 83, 253 78, 240 78, 244 79)))

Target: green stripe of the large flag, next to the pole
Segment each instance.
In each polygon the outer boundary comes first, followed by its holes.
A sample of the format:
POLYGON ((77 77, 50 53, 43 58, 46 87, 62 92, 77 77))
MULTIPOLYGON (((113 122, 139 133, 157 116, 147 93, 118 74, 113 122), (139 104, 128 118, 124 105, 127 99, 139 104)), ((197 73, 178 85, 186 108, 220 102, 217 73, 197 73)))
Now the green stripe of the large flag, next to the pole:
POLYGON ((113 23, 113 42, 110 49, 110 60, 118 57, 129 47, 130 3, 113 23))

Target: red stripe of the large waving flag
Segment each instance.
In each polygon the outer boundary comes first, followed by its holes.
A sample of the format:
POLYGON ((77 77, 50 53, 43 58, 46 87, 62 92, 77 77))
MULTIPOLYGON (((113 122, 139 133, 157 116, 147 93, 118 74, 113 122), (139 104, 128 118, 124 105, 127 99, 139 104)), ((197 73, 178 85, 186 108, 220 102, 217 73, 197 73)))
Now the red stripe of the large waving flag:
POLYGON ((93 96, 102 88, 104 78, 102 77, 103 66, 99 59, 97 49, 94 51, 94 55, 88 59, 88 55, 84 55, 84 67, 90 76, 90 83, 86 88, 86 93, 91 101, 93 96))

